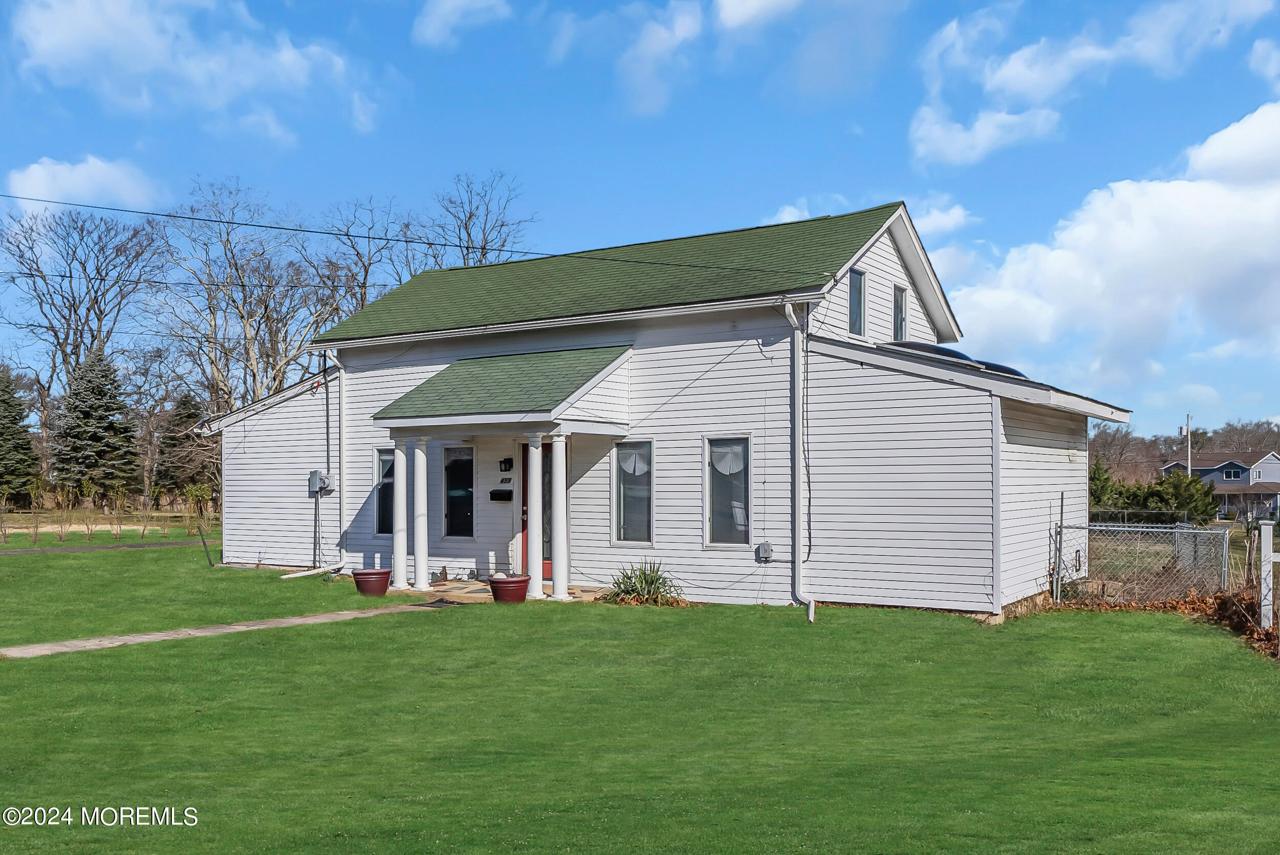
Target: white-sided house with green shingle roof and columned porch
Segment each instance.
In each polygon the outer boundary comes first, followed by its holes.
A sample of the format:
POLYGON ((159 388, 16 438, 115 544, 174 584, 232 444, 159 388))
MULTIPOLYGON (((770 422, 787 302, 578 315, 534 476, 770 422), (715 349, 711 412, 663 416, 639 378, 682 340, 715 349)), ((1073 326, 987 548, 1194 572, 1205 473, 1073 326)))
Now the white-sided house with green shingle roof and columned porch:
POLYGON ((960 338, 906 209, 431 270, 312 343, 330 369, 223 434, 229 563, 650 559, 695 600, 996 612, 1088 518, 1088 417, 1128 411, 960 338), (799 544, 799 549, 794 548, 799 544))

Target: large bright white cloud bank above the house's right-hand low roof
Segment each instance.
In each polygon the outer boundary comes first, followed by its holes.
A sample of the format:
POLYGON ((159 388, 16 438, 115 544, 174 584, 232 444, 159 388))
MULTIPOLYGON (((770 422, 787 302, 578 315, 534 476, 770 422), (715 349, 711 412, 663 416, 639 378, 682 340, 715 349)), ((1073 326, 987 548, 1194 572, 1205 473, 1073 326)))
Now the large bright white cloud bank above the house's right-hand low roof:
MULTIPOLYGON (((952 306, 993 358, 1041 353, 1062 378, 1132 383, 1165 348, 1239 340, 1280 356, 1280 104, 1188 151, 1184 175, 1091 192, 1044 243, 1010 250, 952 306), (1070 342, 1070 346, 1065 343, 1070 342), (1062 355, 1084 355, 1064 362, 1062 355)), ((1235 347, 1235 346, 1231 346, 1235 347)))

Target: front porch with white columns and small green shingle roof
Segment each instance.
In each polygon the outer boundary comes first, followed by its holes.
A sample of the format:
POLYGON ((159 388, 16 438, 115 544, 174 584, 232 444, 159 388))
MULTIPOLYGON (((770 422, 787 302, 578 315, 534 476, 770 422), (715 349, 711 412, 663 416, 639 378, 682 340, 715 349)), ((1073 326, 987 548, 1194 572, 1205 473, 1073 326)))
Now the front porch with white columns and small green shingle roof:
POLYGON ((628 355, 460 360, 379 411, 374 420, 394 442, 384 475, 392 589, 434 590, 430 567, 457 558, 474 562, 477 577, 549 575, 550 590, 531 585, 529 599, 581 599, 570 589, 570 444, 626 436, 628 355), (489 557, 484 572, 479 555, 489 557))

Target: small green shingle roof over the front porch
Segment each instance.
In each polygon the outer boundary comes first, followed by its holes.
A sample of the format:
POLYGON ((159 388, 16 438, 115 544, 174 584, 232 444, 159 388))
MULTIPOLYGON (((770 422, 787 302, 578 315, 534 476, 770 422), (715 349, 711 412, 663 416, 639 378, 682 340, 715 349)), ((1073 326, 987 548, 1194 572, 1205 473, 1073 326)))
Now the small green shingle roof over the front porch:
POLYGON ((379 410, 374 419, 554 410, 626 351, 626 346, 593 347, 458 360, 379 410))

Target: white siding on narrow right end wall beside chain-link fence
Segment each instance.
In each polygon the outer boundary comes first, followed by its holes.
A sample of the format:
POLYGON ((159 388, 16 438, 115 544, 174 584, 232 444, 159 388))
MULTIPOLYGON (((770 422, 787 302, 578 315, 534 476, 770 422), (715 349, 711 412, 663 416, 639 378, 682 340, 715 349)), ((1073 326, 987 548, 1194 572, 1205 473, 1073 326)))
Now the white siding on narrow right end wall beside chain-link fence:
POLYGON ((1001 605, 1048 586, 1059 497, 1068 525, 1089 521, 1088 419, 1001 399, 1001 605))

